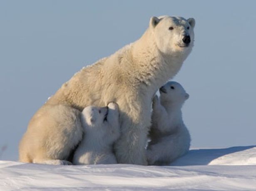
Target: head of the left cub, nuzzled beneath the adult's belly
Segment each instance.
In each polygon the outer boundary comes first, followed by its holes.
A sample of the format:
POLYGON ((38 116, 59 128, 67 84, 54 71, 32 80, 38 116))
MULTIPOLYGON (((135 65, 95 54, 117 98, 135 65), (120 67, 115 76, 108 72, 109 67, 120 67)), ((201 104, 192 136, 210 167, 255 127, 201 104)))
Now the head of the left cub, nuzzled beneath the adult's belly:
POLYGON ((85 107, 82 111, 81 122, 86 133, 97 133, 97 135, 104 133, 104 123, 107 122, 107 116, 108 107, 85 107))

